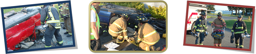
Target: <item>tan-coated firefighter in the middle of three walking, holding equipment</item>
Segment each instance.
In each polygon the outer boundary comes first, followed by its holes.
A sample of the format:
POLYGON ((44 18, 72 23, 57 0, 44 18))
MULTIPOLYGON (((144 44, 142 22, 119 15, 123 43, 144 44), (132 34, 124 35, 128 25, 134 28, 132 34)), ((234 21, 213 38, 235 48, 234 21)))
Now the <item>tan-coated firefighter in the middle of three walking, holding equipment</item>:
MULTIPOLYGON (((225 29, 226 28, 226 22, 224 19, 221 19, 222 13, 219 12, 217 14, 218 18, 214 19, 214 21, 211 23, 212 28, 214 29, 225 29)), ((214 46, 221 46, 221 40, 222 39, 215 39, 214 38, 214 46)))

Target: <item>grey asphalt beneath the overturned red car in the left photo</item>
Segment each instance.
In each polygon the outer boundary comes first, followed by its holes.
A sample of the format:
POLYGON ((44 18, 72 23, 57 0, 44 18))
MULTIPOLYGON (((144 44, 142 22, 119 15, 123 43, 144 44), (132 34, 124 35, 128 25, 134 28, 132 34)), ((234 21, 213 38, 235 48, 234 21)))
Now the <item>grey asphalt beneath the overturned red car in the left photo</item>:
MULTIPOLYGON (((60 35, 62 37, 62 40, 63 40, 63 46, 65 45, 73 45, 73 41, 72 41, 72 37, 67 37, 68 34, 64 34, 64 32, 66 32, 66 29, 63 29, 61 27, 60 29, 60 35)), ((20 48, 20 49, 17 49, 17 50, 25 50, 25 49, 37 49, 37 48, 44 48, 45 47, 45 44, 42 42, 42 38, 36 40, 36 41, 39 41, 41 42, 42 44, 37 44, 35 43, 34 45, 30 46, 29 48, 20 48)), ((56 44, 56 39, 55 37, 53 38, 53 42, 56 44)), ((59 45, 57 45, 59 46, 59 45)), ((52 43, 52 46, 51 47, 55 47, 55 45, 52 43)), ((16 50, 14 50, 16 51, 16 50)))

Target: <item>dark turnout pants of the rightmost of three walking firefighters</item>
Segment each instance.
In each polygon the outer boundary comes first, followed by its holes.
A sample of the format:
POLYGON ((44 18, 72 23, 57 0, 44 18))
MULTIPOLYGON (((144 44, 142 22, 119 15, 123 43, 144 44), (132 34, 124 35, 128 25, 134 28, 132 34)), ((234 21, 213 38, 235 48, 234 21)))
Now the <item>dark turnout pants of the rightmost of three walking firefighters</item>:
POLYGON ((236 46, 240 47, 240 48, 243 48, 243 38, 241 36, 241 33, 238 33, 238 34, 235 34, 235 43, 236 43, 236 46), (240 39, 240 40, 239 40, 240 39), (239 41, 238 41, 239 40, 239 41))

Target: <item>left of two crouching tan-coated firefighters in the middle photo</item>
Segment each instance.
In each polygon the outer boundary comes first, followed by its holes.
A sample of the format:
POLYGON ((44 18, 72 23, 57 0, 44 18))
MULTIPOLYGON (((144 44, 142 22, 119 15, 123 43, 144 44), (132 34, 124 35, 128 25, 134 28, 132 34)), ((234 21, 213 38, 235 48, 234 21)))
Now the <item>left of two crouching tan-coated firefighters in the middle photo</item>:
POLYGON ((116 43, 123 43, 124 40, 130 42, 131 40, 127 36, 127 25, 126 21, 128 19, 128 15, 126 13, 123 13, 121 15, 121 18, 116 19, 112 25, 110 25, 108 28, 108 32, 113 37, 117 37, 116 43))

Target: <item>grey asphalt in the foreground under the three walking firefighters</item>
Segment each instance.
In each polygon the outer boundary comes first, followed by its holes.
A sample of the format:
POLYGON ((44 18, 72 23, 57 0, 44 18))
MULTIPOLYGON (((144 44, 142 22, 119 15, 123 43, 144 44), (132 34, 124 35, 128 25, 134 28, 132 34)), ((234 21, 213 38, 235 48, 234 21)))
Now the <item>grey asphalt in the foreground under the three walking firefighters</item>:
MULTIPOLYGON (((207 21, 208 21, 208 19, 207 19, 207 21)), ((207 24, 207 26, 208 26, 207 32, 209 32, 209 35, 206 38, 204 38, 203 45, 213 46, 214 39, 210 35, 212 33, 212 28, 210 27, 210 24, 207 24)), ((231 30, 225 29, 225 37, 221 41, 222 47, 236 48, 235 41, 234 41, 234 43, 230 43, 230 36, 231 36, 231 30)), ((195 41, 196 41, 195 37, 191 36, 190 34, 186 35, 186 44, 195 44, 195 41)), ((243 39, 243 46, 244 46, 243 48, 249 49, 249 45, 250 45, 250 37, 244 38, 243 39)))

